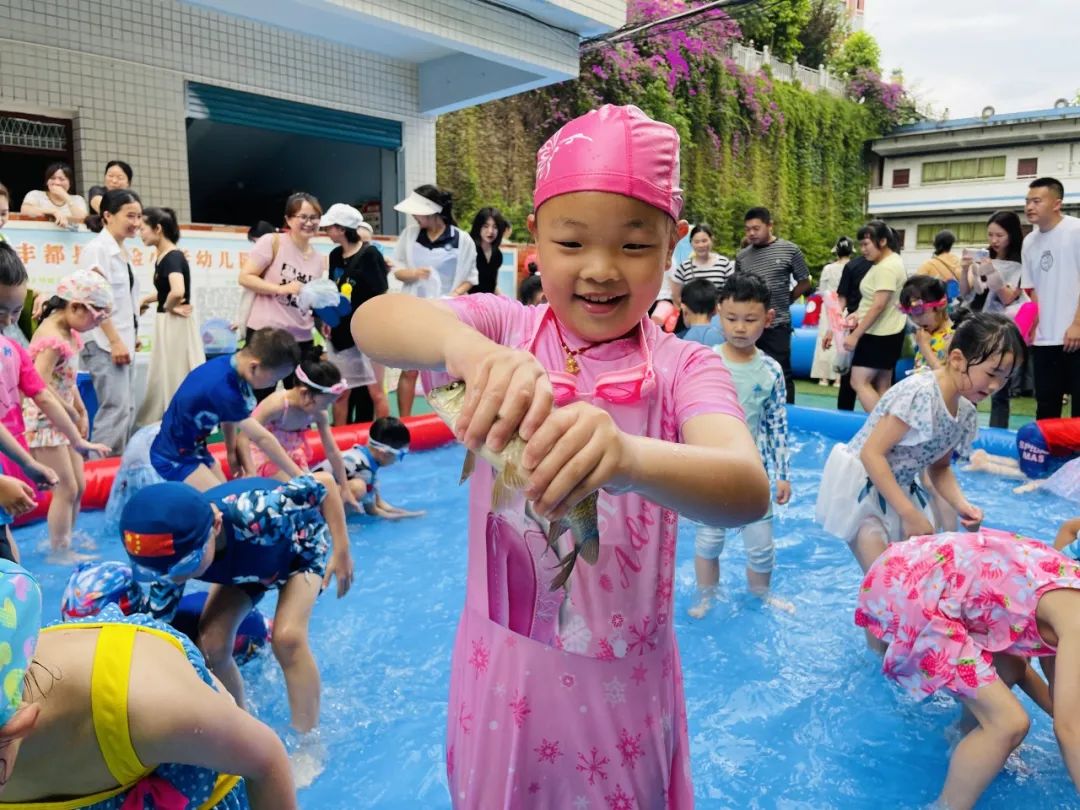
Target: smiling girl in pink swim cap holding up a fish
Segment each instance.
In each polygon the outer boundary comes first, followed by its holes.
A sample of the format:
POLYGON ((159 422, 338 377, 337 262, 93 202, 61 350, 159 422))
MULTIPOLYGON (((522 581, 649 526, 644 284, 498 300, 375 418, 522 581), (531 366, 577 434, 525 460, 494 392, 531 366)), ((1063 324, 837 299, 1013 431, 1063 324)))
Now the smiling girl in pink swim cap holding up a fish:
POLYGON ((528 221, 549 306, 379 296, 353 320, 376 361, 445 369, 427 390, 464 381, 468 447, 527 442, 524 491, 494 503, 491 468, 472 476, 447 712, 456 808, 693 806, 678 514, 745 524, 765 514, 769 482, 723 362, 647 316, 688 230, 678 156, 675 131, 636 107, 569 122, 538 154, 528 221), (596 490, 599 557, 552 591, 543 527, 596 490))

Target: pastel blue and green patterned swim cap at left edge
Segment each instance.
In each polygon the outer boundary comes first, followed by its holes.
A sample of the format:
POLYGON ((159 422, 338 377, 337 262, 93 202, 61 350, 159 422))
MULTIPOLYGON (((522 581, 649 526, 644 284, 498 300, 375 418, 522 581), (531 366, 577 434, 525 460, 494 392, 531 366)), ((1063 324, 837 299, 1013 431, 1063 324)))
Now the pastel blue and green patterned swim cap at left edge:
POLYGON ((23 677, 41 630, 41 586, 25 568, 0 559, 0 725, 23 702, 23 677))

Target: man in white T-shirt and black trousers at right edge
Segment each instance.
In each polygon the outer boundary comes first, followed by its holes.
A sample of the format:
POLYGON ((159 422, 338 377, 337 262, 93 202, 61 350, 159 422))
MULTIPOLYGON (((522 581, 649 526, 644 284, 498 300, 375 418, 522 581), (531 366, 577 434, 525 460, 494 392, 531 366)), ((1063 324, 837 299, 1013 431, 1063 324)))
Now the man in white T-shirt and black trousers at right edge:
POLYGON ((1080 417, 1080 219, 1062 214, 1065 188, 1053 177, 1028 187, 1021 286, 1039 303, 1035 332, 1036 419, 1062 415, 1068 394, 1080 417))

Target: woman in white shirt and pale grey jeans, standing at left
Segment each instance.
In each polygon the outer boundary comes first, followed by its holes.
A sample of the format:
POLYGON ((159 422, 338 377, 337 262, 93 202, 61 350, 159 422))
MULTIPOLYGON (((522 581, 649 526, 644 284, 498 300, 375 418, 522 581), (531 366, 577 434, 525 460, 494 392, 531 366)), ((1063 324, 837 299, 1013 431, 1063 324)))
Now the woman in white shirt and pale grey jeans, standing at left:
POLYGON ((137 347, 138 282, 124 242, 143 227, 143 203, 129 189, 102 195, 102 232, 83 248, 81 268, 105 276, 112 288, 112 315, 85 335, 81 360, 94 382, 97 414, 94 441, 116 455, 124 451, 135 419, 135 377, 132 360, 137 347))

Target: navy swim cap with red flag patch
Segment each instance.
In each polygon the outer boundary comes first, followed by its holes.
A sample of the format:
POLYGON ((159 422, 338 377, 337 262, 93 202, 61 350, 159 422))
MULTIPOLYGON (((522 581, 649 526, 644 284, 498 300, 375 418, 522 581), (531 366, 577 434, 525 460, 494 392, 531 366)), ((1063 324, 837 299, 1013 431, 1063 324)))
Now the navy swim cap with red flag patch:
POLYGON ((214 525, 210 501, 187 484, 144 487, 120 514, 120 534, 135 569, 164 577, 187 577, 203 558, 214 525))

